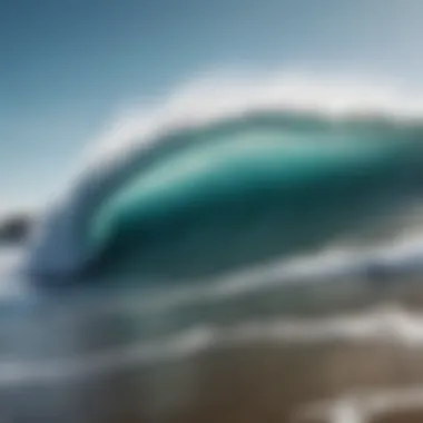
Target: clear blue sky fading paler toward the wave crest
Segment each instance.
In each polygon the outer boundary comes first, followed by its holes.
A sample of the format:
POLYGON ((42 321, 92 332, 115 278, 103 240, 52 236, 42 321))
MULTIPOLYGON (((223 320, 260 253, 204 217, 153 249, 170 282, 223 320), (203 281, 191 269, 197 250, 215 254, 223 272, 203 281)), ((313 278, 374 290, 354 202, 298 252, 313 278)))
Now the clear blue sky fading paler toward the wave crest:
POLYGON ((0 0, 0 213, 37 207, 119 110, 199 72, 421 86, 421 0, 0 0))

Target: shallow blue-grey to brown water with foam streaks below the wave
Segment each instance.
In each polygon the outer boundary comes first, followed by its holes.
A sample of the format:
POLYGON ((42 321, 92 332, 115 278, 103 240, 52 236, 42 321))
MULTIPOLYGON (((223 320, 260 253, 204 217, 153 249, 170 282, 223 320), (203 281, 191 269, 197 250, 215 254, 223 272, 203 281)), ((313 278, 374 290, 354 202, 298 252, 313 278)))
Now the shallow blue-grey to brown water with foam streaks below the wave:
POLYGON ((419 421, 422 299, 419 273, 23 289, 0 311, 0 415, 419 421))

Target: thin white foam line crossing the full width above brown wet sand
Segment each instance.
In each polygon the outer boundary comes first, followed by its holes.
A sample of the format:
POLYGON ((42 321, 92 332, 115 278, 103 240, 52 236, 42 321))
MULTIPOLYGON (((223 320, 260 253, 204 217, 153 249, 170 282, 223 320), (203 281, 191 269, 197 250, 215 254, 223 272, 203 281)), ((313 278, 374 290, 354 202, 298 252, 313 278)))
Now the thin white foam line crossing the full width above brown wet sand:
POLYGON ((334 341, 387 342, 420 348, 423 346, 423 316, 386 308, 329 318, 257 321, 226 327, 198 326, 160 340, 81 356, 32 362, 0 358, 0 386, 79 380, 127 366, 187 358, 218 346, 260 342, 307 345, 334 341))

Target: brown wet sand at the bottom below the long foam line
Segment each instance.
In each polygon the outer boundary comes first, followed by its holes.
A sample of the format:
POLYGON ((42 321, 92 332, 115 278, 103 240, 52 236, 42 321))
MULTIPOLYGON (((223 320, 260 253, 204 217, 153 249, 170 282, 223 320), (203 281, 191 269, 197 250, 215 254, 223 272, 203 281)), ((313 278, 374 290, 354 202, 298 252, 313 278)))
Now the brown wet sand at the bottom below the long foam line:
MULTIPOLYGON (((22 423, 332 422, 327 401, 423 383, 422 357, 422 351, 388 345, 218 348, 160 368, 9 388, 1 395, 1 411, 6 422, 22 423), (325 405, 313 413, 318 404, 325 405)), ((422 413, 393 410, 370 421, 411 423, 423 417, 421 406, 422 413)))

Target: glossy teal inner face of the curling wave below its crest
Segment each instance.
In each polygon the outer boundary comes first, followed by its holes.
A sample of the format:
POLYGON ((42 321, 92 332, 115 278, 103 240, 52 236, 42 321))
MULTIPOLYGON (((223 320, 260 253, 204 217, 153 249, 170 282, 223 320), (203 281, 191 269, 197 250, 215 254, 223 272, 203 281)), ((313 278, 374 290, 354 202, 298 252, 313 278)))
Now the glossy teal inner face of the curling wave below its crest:
POLYGON ((254 265, 354 232, 420 184, 407 130, 285 119, 189 136, 96 212, 97 269, 175 278, 254 265))

